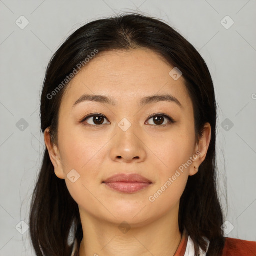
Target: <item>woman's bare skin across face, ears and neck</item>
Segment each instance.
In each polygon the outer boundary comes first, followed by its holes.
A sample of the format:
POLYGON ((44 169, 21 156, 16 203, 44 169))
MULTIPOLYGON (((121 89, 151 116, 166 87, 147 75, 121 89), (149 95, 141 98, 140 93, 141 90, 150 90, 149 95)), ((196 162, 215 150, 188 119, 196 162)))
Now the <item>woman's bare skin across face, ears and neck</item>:
POLYGON ((198 168, 206 157, 210 124, 205 124, 196 143, 192 101, 183 77, 174 80, 169 75, 172 68, 149 49, 98 53, 62 97, 58 145, 50 141, 48 128, 44 132, 54 172, 65 179, 79 206, 80 256, 174 255, 179 245, 179 200, 188 176, 197 173, 194 166, 198 168), (84 93, 112 97, 116 105, 84 101, 72 107, 84 93), (182 108, 168 101, 139 106, 141 97, 163 93, 176 97, 182 108), (79 122, 91 113, 104 115, 104 123, 93 122, 93 117, 79 122), (157 124, 148 119, 154 113, 166 113, 176 122, 164 118, 157 124), (123 118, 131 123, 126 131, 118 126, 123 118), (192 164, 154 202, 149 201, 197 150, 200 155, 192 164), (80 175, 74 183, 67 177, 72 169, 80 175), (123 172, 141 174, 152 184, 127 194, 102 183, 123 172), (123 221, 130 227, 125 233, 118 228, 123 221))

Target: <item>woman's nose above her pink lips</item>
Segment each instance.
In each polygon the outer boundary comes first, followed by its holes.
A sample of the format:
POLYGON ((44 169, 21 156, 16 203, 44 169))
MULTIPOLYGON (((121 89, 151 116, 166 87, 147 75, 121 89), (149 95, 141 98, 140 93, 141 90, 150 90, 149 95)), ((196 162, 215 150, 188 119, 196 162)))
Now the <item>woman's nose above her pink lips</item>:
POLYGON ((145 138, 142 131, 131 125, 126 131, 116 126, 110 143, 110 157, 119 162, 142 162, 146 158, 145 138))

